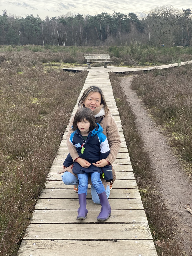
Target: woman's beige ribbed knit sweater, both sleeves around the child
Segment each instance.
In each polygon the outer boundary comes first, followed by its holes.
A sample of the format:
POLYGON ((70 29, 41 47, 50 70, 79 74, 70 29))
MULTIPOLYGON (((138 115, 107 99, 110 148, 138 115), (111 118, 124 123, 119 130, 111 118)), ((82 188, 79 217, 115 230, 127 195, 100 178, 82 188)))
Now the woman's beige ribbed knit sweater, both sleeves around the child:
MULTIPOLYGON (((94 110, 94 114, 98 114, 98 112, 100 111, 101 108, 102 108, 102 105, 99 108, 95 109, 97 111, 94 110)), ((101 118, 102 118, 102 116, 99 118, 96 118, 96 120, 97 119, 100 120, 101 118)), ((68 146, 70 155, 73 158, 73 162, 74 162, 75 159, 77 159, 79 157, 79 155, 77 153, 76 148, 69 141, 70 135, 73 132, 71 130, 71 127, 73 125, 73 120, 74 120, 74 115, 71 118, 71 121, 69 124, 69 132, 68 132, 66 138, 67 138, 67 146, 68 146)), ((119 150, 121 147, 121 138, 120 138, 117 124, 116 124, 114 118, 111 116, 110 111, 107 115, 104 115, 104 118, 103 118, 102 122, 100 123, 100 125, 103 128, 103 133, 108 138, 109 147, 111 150, 111 152, 110 152, 109 156, 106 158, 106 160, 112 165, 119 153, 119 150)))

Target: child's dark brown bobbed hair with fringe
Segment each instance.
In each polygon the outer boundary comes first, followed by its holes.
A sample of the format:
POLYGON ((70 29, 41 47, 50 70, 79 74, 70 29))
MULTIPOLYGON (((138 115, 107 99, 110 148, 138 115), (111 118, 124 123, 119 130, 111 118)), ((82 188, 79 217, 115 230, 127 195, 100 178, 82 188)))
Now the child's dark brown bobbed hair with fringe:
POLYGON ((84 120, 87 120, 88 122, 90 122, 89 132, 95 129, 95 127, 97 126, 93 111, 89 108, 80 108, 77 110, 75 114, 72 130, 76 131, 78 129, 78 126, 77 126, 78 122, 84 121, 84 120))

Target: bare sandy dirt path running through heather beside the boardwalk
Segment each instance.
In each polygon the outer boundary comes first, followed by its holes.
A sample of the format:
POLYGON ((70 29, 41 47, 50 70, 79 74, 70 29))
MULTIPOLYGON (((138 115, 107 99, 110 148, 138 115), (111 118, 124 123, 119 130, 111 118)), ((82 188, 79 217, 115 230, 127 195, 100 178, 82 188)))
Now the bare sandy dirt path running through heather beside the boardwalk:
POLYGON ((178 238, 184 239, 186 253, 191 255, 192 215, 186 211, 186 207, 187 204, 190 204, 192 209, 192 184, 185 174, 182 164, 174 155, 173 148, 169 146, 167 138, 150 117, 141 98, 131 89, 132 79, 133 76, 120 78, 121 85, 137 117, 137 125, 145 142, 146 150, 150 154, 157 176, 156 187, 159 188, 170 215, 175 219, 174 229, 178 231, 178 238))

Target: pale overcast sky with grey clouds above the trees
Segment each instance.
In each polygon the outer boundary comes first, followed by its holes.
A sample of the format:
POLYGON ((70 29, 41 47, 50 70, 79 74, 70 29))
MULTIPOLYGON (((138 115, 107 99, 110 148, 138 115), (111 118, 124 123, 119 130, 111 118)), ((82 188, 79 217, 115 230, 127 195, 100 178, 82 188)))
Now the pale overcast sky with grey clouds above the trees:
POLYGON ((161 5, 172 5, 178 9, 192 8, 190 0, 0 0, 0 15, 7 9, 7 14, 13 14, 20 17, 26 17, 27 14, 33 14, 45 19, 46 16, 58 17, 68 13, 97 15, 102 12, 113 14, 114 12, 129 14, 136 13, 139 17, 145 10, 153 9, 161 5))

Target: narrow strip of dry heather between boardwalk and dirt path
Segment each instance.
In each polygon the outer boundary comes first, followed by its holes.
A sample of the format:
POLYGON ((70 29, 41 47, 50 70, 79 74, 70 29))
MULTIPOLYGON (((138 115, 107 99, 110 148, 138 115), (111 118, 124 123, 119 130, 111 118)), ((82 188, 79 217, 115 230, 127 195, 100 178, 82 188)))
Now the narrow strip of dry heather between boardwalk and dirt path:
POLYGON ((111 73, 110 79, 121 116, 133 172, 140 190, 152 236, 154 242, 164 241, 161 247, 156 246, 157 253, 159 256, 184 256, 182 243, 178 243, 174 239, 174 231, 172 229, 174 220, 169 217, 168 210, 154 187, 155 173, 152 169, 150 157, 145 151, 142 137, 138 132, 135 123, 136 117, 130 103, 127 101, 124 90, 120 86, 117 75, 111 73))

